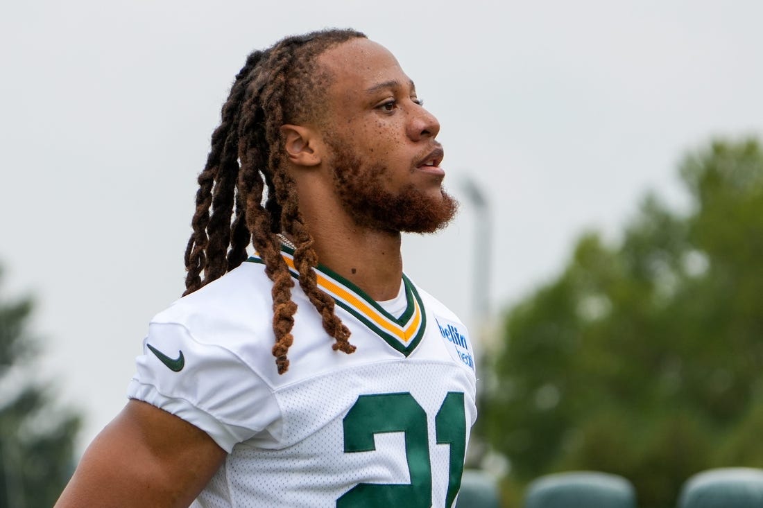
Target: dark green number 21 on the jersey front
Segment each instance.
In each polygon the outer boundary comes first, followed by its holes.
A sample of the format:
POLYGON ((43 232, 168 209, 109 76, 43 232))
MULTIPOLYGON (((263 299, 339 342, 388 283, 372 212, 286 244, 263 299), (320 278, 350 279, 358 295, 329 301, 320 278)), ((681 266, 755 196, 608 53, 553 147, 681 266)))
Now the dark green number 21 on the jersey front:
MULTIPOLYGON (((450 391, 435 416, 438 445, 450 445, 446 508, 461 487, 466 452, 464 394, 450 391)), ((368 506, 432 506, 432 466, 427 436, 427 413, 409 393, 361 395, 344 417, 344 451, 375 450, 374 434, 405 433, 405 457, 410 484, 357 484, 336 500, 336 508, 368 506)))

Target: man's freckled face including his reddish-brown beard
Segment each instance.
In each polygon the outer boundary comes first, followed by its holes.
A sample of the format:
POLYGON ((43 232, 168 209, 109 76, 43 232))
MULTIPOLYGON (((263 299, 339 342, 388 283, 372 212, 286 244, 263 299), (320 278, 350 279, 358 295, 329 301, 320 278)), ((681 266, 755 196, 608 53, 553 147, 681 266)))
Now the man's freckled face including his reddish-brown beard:
POLYGON ((439 146, 439 122, 419 104, 397 59, 367 39, 343 43, 321 59, 334 77, 327 125, 335 127, 327 129, 325 141, 346 211, 357 224, 380 230, 444 227, 456 201, 443 191, 442 174, 417 168, 439 146), (369 65, 353 65, 358 61, 369 65), (386 82, 392 84, 368 92, 386 82), (386 101, 394 102, 390 111, 386 101))

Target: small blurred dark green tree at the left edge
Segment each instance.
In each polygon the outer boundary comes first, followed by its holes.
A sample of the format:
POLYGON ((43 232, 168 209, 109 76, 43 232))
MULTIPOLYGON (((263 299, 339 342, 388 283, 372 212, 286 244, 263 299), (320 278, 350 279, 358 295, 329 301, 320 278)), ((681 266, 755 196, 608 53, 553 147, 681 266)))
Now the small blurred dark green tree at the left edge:
MULTIPOLYGON (((0 272, 2 276, 2 272, 0 272)), ((55 410, 29 361, 30 298, 0 294, 0 508, 53 506, 74 467, 79 416, 55 410)))

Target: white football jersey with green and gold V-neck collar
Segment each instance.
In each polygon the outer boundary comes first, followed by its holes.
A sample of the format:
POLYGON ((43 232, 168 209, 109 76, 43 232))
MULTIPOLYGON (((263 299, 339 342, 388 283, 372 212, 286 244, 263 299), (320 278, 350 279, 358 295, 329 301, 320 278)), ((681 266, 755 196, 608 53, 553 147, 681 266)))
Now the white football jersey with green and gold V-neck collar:
MULTIPOLYGON (((293 251, 282 253, 296 277, 293 251)), ((295 285, 294 344, 278 375, 272 282, 252 257, 151 321, 128 396, 228 452, 192 506, 450 508, 477 416, 465 326, 405 276, 407 307, 394 317, 327 268, 316 272, 353 354, 331 348, 295 285)))

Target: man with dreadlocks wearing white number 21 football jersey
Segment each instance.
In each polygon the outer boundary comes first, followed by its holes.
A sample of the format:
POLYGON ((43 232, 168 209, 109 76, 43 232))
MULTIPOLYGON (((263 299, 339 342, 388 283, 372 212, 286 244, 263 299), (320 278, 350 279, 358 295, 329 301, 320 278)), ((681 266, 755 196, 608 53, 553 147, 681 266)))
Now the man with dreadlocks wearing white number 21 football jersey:
POLYGON ((456 210, 438 132, 363 34, 252 53, 198 178, 185 296, 56 506, 452 506, 472 346, 400 254, 456 210))

